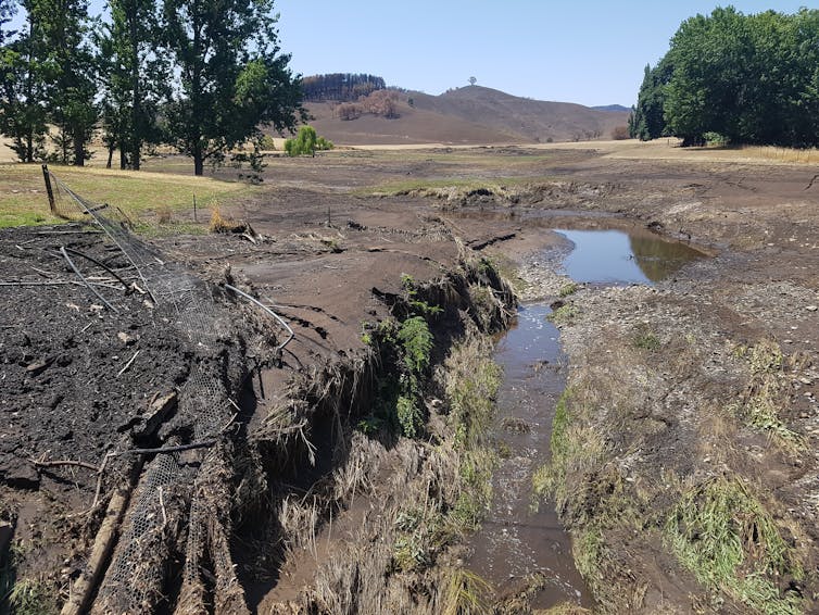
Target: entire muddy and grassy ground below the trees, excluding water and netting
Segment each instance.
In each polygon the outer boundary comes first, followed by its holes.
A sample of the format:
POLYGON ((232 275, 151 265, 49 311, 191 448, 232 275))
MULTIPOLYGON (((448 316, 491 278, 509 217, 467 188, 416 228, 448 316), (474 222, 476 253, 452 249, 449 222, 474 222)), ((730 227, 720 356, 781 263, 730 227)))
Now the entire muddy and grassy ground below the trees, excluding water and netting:
POLYGON ((570 308, 568 388, 533 490, 557 506, 595 611, 816 612, 816 153, 675 145, 346 148, 270 158, 257 186, 173 156, 53 167, 121 208, 174 288, 204 292, 192 334, 161 297, 75 260, 118 312, 104 310, 56 250, 127 263, 92 227, 52 226, 39 166, 0 164, 0 226, 35 225, 0 230, 0 378, 14 384, 0 600, 55 612, 101 583, 100 613, 529 612, 531 579, 489 588, 463 564, 497 454, 489 349, 514 288, 570 308), (569 289, 550 229, 609 227, 708 258, 653 287, 569 289), (292 342, 274 352, 285 331, 226 285, 273 306, 292 342), (174 457, 140 543, 156 561, 123 598, 106 557, 92 581, 87 563, 127 534, 163 455, 109 467, 106 452, 197 440, 197 369, 236 407, 215 444, 174 457))

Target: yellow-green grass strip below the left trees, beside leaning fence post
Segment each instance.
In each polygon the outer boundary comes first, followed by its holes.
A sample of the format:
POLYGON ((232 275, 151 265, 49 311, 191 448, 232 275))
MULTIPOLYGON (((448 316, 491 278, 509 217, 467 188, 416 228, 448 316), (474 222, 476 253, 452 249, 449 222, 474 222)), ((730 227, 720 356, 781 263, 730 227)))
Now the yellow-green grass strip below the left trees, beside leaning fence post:
MULTIPOLYGON (((211 177, 169 173, 113 171, 98 167, 51 166, 51 172, 71 190, 92 203, 121 208, 138 224, 154 223, 160 212, 171 213, 168 229, 176 230, 174 214, 192 217, 193 196, 199 219, 206 225, 211 206, 238 200, 259 188, 211 177)), ((180 170, 181 171, 181 170, 180 170)), ((60 198, 58 193, 58 198, 60 198)), ((51 214, 39 164, 0 164, 0 228, 55 224, 51 214)), ((190 223, 188 223, 190 224, 190 223)))

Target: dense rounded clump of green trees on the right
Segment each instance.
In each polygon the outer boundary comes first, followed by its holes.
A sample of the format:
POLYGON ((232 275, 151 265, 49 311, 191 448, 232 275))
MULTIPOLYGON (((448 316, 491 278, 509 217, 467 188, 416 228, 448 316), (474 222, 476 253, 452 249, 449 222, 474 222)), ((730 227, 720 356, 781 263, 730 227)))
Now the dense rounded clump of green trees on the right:
POLYGON ((632 137, 819 146, 819 11, 744 15, 732 7, 682 23, 646 66, 632 137))

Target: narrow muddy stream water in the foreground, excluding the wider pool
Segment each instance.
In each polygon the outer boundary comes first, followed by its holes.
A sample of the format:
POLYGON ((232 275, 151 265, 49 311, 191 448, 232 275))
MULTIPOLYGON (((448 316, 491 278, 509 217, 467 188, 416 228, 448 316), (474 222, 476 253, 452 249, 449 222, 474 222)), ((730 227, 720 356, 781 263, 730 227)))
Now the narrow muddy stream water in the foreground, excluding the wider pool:
POLYGON ((505 378, 493 435, 507 459, 495 470, 492 507, 471 540, 467 565, 500 595, 522 589, 526 576, 543 574, 549 580, 533 607, 566 601, 589 606, 589 591, 554 506, 531 509, 532 472, 549 460, 554 407, 566 385, 566 362, 558 331, 545 318, 549 313, 540 304, 520 308, 516 326, 497 344, 495 361, 505 378))

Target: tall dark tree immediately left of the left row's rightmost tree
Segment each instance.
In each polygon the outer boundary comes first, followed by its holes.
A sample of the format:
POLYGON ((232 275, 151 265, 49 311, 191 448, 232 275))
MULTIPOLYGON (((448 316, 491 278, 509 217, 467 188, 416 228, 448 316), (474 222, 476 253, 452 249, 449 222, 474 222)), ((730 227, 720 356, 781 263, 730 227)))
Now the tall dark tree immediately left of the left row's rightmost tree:
POLYGON ((109 164, 139 171, 144 143, 160 141, 158 113, 171 93, 164 53, 156 52, 159 13, 153 0, 110 0, 111 23, 98 34, 103 81, 102 120, 109 164))

